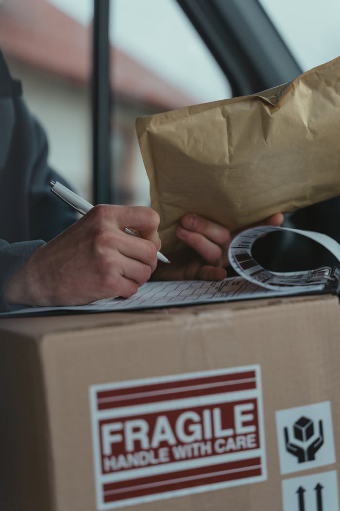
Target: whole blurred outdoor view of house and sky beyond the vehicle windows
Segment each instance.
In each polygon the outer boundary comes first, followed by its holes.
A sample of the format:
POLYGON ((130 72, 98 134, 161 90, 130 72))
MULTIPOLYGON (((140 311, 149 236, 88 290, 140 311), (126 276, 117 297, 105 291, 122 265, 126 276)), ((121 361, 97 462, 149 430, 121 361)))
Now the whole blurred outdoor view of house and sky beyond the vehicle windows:
MULTIPOLYGON (((260 4, 301 71, 340 55, 338 0, 260 4)), ((47 132, 50 165, 88 200, 93 12, 93 0, 0 0, 0 47, 47 132)), ((136 117, 229 98, 231 87, 176 0, 111 0, 109 40, 111 202, 148 205, 136 117)))

